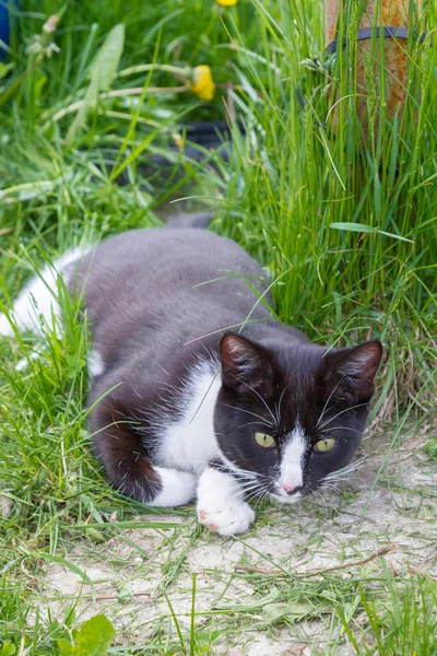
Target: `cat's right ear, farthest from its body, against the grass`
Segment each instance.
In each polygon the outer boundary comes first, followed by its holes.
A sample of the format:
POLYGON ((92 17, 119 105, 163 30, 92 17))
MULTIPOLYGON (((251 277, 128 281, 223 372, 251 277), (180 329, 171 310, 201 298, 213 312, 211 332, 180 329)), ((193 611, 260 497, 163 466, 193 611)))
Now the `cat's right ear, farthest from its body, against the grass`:
POLYGON ((378 340, 329 353, 326 379, 333 396, 354 403, 369 400, 381 356, 382 345, 378 340))

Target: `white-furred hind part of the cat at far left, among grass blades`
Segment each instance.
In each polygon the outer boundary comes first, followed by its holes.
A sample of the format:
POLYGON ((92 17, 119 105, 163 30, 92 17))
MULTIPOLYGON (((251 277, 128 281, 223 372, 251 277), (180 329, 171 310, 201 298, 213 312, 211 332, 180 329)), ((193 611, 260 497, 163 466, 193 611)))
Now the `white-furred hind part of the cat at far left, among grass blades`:
POLYGON ((31 330, 42 335, 44 325, 50 326, 54 318, 55 325, 59 323, 58 277, 60 276, 67 284, 69 272, 74 271, 75 262, 85 251, 85 247, 67 250, 52 265, 47 265, 32 278, 20 292, 9 316, 0 315, 0 335, 13 337, 15 330, 31 330))

